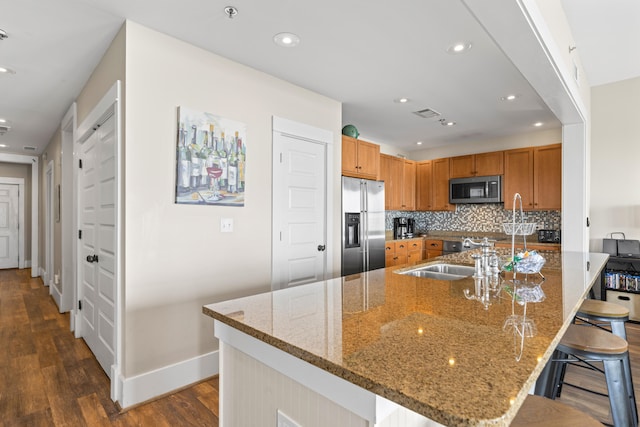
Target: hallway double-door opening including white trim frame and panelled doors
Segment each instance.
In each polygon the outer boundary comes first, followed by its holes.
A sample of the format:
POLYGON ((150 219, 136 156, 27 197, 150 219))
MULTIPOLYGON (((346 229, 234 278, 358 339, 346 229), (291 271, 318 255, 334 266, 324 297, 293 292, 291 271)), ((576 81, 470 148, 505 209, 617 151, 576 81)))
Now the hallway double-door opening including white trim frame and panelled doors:
MULTIPOLYGON (((76 337, 83 338, 111 379, 117 401, 121 349, 120 293, 120 82, 77 129, 78 229, 76 337)), ((120 388, 121 389, 121 388, 120 388)))

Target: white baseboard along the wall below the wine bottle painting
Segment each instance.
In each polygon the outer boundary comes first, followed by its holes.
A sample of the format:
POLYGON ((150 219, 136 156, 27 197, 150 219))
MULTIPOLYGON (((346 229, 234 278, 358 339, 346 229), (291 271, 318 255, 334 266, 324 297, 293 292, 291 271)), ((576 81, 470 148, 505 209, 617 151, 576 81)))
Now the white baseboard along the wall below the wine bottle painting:
POLYGON ((216 350, 131 378, 124 378, 112 369, 112 399, 123 410, 127 410, 131 406, 217 375, 220 372, 219 360, 216 350))

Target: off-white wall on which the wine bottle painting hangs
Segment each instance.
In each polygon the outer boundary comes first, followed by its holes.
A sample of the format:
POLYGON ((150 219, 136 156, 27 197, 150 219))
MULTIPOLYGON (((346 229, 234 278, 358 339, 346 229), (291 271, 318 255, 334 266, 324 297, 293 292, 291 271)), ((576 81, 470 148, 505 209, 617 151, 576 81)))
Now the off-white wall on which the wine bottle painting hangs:
MULTIPOLYGON (((270 290, 272 116, 334 132, 334 206, 342 126, 337 101, 132 22, 126 70, 123 372, 131 377, 215 350, 204 304, 270 290), (246 123, 244 207, 174 203, 178 106, 246 123), (220 233, 222 217, 233 218, 233 233, 220 233)), ((333 259, 339 268, 339 247, 333 259)))

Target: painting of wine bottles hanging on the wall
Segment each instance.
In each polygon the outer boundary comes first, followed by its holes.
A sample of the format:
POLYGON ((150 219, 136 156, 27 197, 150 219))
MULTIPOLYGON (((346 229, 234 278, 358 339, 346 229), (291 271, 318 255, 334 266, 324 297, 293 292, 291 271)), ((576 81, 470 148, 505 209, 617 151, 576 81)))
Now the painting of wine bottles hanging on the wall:
POLYGON ((176 203, 244 206, 246 165, 244 123, 178 107, 176 203))

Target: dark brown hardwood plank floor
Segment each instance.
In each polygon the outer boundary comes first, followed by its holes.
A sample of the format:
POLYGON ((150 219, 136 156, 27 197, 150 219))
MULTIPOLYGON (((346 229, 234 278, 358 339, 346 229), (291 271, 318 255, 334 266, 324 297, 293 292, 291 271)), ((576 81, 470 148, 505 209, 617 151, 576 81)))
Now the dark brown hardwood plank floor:
MULTIPOLYGON (((218 378, 121 412, 109 379, 82 339, 69 331, 42 280, 31 270, 0 270, 0 427, 218 426, 218 378)), ((636 394, 640 392, 640 325, 627 334, 636 394)), ((605 391, 599 374, 569 367, 566 379, 605 391)), ((609 403, 565 387, 562 402, 611 423, 609 403)))

